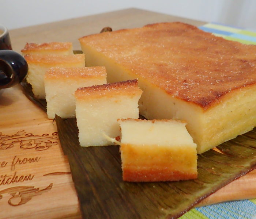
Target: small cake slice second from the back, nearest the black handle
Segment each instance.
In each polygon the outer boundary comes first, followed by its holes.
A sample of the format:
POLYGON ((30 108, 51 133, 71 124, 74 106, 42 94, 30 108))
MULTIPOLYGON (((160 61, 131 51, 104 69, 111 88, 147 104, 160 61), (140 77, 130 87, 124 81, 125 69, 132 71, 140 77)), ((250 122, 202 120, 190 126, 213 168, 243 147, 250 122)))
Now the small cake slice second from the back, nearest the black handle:
POLYGON ((31 84, 36 98, 45 99, 44 75, 52 67, 85 67, 84 54, 38 55, 28 54, 24 58, 29 65, 27 82, 31 84))

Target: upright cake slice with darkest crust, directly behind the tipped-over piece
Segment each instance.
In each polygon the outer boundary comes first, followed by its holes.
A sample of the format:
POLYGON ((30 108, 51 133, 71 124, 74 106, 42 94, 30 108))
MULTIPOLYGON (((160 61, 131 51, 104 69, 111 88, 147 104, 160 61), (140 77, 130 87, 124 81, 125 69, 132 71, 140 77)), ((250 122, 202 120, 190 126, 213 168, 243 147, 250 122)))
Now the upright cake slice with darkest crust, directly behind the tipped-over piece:
POLYGON ((80 145, 111 145, 105 135, 120 135, 117 119, 139 118, 141 94, 137 80, 78 88, 75 97, 80 145))

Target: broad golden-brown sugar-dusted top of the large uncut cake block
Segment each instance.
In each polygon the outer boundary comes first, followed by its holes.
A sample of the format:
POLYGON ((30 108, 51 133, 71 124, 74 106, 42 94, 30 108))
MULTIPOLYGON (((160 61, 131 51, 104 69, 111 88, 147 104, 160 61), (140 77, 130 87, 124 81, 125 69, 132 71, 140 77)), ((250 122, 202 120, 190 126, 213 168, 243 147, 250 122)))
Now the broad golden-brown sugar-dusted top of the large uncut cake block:
POLYGON ((256 46, 175 22, 79 39, 138 78, 206 110, 225 94, 256 84, 256 46))

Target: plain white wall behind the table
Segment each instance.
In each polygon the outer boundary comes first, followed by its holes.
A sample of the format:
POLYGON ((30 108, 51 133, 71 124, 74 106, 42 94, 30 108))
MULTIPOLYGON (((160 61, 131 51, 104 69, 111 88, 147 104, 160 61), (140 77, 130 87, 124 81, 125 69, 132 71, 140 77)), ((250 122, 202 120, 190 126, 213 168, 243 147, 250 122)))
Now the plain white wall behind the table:
POLYGON ((0 23, 14 29, 131 7, 256 31, 256 0, 0 0, 0 23))

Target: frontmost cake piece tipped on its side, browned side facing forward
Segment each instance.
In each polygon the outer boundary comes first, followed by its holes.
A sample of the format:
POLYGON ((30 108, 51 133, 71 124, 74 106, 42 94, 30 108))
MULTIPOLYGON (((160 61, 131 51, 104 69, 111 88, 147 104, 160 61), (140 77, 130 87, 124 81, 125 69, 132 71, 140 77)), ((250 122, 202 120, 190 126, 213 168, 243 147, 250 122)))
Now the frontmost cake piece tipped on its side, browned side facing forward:
POLYGON ((118 119, 123 180, 176 181, 197 178, 196 144, 185 122, 118 119))

